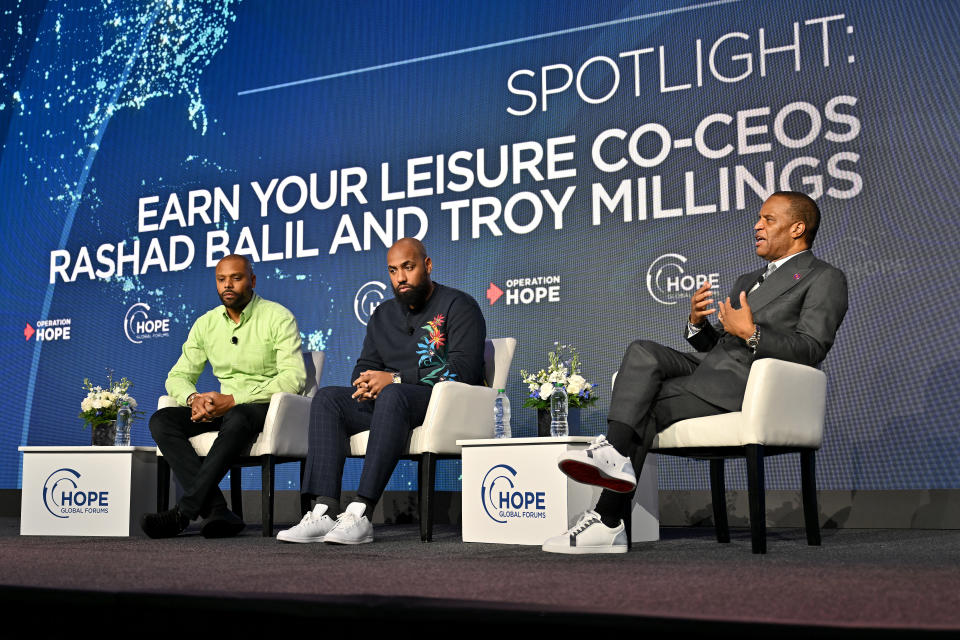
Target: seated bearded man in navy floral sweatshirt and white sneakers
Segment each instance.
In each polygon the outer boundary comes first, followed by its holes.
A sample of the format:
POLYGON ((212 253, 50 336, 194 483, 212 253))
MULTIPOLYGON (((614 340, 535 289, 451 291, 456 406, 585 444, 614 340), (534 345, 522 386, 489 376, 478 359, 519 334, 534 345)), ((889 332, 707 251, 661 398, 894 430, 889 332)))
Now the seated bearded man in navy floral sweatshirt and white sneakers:
POLYGON ((324 387, 310 408, 310 441, 301 492, 315 499, 284 542, 373 542, 370 518, 406 448, 423 424, 433 385, 483 382, 486 322, 469 295, 430 280, 433 262, 419 240, 387 252, 394 298, 373 313, 353 386, 324 387), (340 510, 348 439, 370 431, 357 498, 340 510))

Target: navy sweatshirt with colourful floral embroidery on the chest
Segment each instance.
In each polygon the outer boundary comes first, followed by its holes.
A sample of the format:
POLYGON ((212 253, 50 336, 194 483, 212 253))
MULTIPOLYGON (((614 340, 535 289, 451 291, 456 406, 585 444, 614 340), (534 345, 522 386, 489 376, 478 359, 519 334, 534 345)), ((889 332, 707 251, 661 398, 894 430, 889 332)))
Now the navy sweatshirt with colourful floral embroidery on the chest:
POLYGON ((377 307, 350 380, 373 370, 399 372, 404 384, 482 384, 486 337, 487 323, 477 301, 435 282, 421 309, 411 311, 396 298, 377 307))

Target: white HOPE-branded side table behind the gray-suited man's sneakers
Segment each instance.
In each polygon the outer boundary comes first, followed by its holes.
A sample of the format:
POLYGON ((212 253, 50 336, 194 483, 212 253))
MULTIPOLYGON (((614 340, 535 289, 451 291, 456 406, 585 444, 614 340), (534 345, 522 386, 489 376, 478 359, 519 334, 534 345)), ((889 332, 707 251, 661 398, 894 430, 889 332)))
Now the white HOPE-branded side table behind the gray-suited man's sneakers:
MULTIPOLYGON (((463 447, 463 541, 540 545, 592 509, 599 487, 575 482, 557 468, 570 449, 593 437, 458 440, 463 447)), ((648 456, 632 509, 634 542, 660 539, 657 462, 648 456)))

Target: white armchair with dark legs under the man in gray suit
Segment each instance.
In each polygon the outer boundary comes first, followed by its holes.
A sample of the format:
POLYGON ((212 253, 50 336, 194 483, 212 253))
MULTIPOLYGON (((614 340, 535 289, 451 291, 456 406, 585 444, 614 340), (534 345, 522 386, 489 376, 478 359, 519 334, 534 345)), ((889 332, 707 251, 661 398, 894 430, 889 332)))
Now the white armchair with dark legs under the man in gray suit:
POLYGON ((757 360, 750 368, 740 411, 682 420, 654 439, 652 452, 710 461, 717 541, 730 541, 724 460, 747 460, 751 545, 753 553, 766 553, 763 459, 799 453, 807 543, 820 544, 814 455, 823 442, 826 386, 826 376, 813 367, 770 358, 757 360))

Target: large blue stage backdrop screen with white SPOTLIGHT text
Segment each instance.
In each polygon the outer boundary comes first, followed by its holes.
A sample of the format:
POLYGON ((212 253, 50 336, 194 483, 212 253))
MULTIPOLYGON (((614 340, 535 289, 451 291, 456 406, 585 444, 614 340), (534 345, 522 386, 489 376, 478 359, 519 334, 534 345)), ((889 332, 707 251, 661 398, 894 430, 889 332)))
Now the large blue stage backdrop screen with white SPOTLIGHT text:
MULTIPOLYGON (((514 435, 535 431, 518 370, 555 342, 598 385, 600 433, 627 344, 685 348, 695 286, 762 264, 777 189, 817 199, 815 253, 850 284, 820 487, 960 488, 956 3, 5 6, 0 488, 18 445, 89 441, 84 377, 156 406, 228 252, 348 383, 405 235, 518 339, 514 435)), ((458 464, 442 478, 458 489, 458 464)), ((415 482, 402 465, 389 488, 415 482)), ((661 460, 660 483, 706 472, 661 460)))

